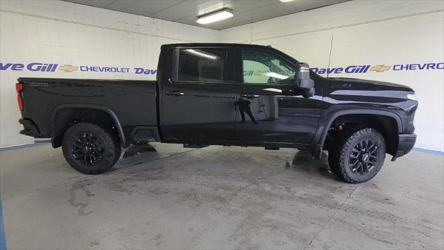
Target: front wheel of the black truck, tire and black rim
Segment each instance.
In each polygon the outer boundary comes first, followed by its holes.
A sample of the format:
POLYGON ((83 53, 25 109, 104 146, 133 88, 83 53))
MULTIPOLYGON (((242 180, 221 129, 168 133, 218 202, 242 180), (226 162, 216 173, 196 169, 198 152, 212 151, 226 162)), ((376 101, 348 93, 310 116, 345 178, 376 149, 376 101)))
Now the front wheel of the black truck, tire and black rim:
POLYGON ((374 128, 349 128, 336 135, 328 153, 330 170, 348 183, 364 183, 379 172, 386 156, 384 137, 374 128))

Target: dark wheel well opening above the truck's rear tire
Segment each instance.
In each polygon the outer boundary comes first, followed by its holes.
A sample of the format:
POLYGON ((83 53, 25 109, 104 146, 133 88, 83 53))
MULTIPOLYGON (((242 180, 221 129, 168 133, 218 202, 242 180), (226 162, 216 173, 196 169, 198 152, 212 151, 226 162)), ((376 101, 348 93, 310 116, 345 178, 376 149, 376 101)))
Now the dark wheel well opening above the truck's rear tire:
MULTIPOLYGON (((62 108, 53 118, 53 147, 62 146, 67 129, 78 122, 91 122, 119 136, 117 124, 107 112, 95 108, 62 108)), ((119 137, 118 137, 119 138, 119 137)), ((120 139, 121 140, 121 139, 120 139)))

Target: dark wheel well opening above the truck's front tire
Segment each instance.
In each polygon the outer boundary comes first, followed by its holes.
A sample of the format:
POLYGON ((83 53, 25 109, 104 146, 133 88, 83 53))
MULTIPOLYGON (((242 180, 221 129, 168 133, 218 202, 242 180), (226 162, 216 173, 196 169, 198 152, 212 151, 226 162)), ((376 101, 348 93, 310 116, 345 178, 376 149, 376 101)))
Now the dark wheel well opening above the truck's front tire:
POLYGON ((332 138, 336 133, 340 133, 337 129, 339 125, 346 128, 350 125, 359 126, 362 128, 375 128, 382 134, 386 141, 387 153, 394 154, 398 148, 398 123, 393 117, 386 115, 370 115, 370 114, 350 114, 336 117, 330 125, 325 139, 325 149, 330 147, 332 138))

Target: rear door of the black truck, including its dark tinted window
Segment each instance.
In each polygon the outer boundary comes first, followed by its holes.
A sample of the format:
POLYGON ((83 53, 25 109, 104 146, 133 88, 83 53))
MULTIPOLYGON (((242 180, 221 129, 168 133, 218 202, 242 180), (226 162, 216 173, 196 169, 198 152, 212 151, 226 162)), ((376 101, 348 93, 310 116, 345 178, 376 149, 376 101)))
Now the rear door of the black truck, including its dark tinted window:
POLYGON ((234 137, 234 51, 175 49, 171 78, 160 85, 166 141, 228 141, 234 137))

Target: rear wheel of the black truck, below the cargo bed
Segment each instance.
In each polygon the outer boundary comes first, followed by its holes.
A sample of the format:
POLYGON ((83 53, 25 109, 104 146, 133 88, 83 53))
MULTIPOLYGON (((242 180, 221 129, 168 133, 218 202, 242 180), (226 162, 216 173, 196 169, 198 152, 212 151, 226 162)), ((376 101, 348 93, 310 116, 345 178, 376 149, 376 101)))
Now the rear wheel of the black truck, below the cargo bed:
POLYGON ((121 154, 117 136, 96 124, 79 122, 63 135, 63 156, 78 172, 100 174, 110 169, 121 154))

